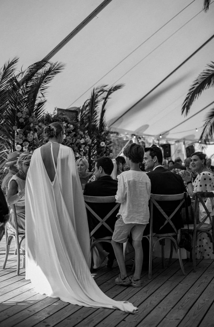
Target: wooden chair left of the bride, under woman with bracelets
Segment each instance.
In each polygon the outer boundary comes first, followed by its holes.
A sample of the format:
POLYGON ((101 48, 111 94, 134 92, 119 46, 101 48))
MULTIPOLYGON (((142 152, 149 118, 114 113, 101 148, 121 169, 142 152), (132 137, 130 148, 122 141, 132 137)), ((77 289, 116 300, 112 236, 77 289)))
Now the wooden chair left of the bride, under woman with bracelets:
POLYGON ((8 260, 8 254, 10 250, 10 244, 12 239, 14 238, 16 249, 14 254, 17 254, 17 269, 16 269, 16 275, 19 275, 19 269, 20 269, 20 247, 21 243, 25 238, 25 230, 21 230, 19 228, 18 230, 18 223, 17 223, 17 215, 16 215, 16 207, 13 204, 12 206, 13 215, 14 215, 14 226, 11 224, 11 222, 7 222, 5 225, 5 237, 6 237, 6 253, 5 253, 5 261, 3 264, 3 269, 6 266, 7 260, 8 260), (19 236, 21 236, 21 239, 19 241, 19 236))

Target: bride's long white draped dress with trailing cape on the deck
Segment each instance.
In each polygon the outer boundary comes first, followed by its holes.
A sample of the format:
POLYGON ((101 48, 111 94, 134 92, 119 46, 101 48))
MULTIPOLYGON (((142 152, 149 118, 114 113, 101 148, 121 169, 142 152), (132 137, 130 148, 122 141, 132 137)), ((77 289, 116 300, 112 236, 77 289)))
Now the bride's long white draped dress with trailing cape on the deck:
POLYGON ((131 303, 107 297, 91 276, 88 221, 71 148, 59 146, 55 172, 51 182, 36 149, 25 186, 25 278, 39 293, 65 302, 136 312, 131 303))

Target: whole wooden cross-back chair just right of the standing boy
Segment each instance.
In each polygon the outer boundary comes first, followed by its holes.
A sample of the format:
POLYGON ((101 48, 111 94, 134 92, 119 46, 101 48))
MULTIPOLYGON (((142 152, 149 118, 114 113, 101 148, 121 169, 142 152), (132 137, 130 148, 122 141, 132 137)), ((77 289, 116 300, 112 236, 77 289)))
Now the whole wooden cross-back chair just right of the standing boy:
MULTIPOLYGON (((159 194, 151 194, 150 196, 150 234, 143 236, 146 237, 149 240, 149 279, 152 278, 152 253, 155 249, 155 246, 158 241, 162 241, 164 239, 170 239, 171 240, 171 251, 170 251, 170 259, 169 259, 169 265, 172 260, 172 255, 173 255, 173 246, 175 248, 176 253, 178 252, 178 258, 179 258, 179 263, 181 270, 183 274, 185 275, 184 271, 184 266, 182 263, 182 258, 181 258, 181 249, 178 247, 178 244, 180 242, 180 229, 177 230, 176 227, 174 226, 172 222, 172 217, 175 215, 175 213, 182 208, 182 205, 186 202, 185 197, 186 193, 182 194, 173 194, 173 195, 159 195, 159 194), (179 205, 174 209, 173 213, 168 216, 163 209, 159 206, 157 201, 177 201, 180 200, 179 205), (165 218, 165 223, 163 224, 162 227, 164 227, 167 223, 171 225, 173 228, 173 232, 170 233, 161 233, 161 228, 160 231, 157 233, 153 233, 153 206, 155 206, 158 211, 164 216, 165 218), (153 237, 157 237, 157 240, 153 243, 153 237)), ((186 204, 187 205, 187 204, 186 204)), ((155 217, 154 217, 155 218, 155 217)), ((164 267, 164 243, 161 242, 161 250, 162 250, 162 267, 164 267)), ((168 266, 169 266, 168 265, 168 266)))

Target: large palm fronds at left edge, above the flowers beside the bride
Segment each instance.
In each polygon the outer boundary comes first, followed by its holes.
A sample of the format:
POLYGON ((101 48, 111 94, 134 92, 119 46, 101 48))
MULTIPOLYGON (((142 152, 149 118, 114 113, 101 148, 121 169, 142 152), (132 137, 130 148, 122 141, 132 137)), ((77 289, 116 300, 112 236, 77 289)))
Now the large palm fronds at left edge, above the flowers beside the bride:
POLYGON ((15 150, 17 128, 32 129, 32 117, 42 119, 48 83, 64 68, 62 63, 39 61, 18 72, 17 63, 15 57, 0 69, 0 150, 4 154, 0 167, 7 152, 15 150))

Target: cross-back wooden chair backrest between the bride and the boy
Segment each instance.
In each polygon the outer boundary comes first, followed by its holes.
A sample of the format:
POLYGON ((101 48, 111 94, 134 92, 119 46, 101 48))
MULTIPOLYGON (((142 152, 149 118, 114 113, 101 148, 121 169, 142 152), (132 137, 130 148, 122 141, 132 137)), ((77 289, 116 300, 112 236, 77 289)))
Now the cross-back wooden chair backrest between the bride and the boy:
POLYGON ((100 228, 100 226, 105 226, 111 233, 113 233, 112 229, 108 226, 106 220, 117 210, 120 206, 120 203, 115 203, 115 206, 107 213, 104 218, 101 218, 94 212, 88 203, 114 203, 116 202, 115 196, 110 197, 91 197, 84 195, 85 206, 91 212, 92 215, 98 220, 98 225, 90 232, 90 237, 100 228), (88 202, 88 203, 87 203, 88 202))

